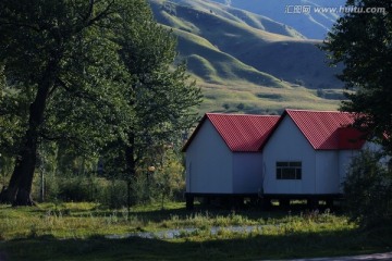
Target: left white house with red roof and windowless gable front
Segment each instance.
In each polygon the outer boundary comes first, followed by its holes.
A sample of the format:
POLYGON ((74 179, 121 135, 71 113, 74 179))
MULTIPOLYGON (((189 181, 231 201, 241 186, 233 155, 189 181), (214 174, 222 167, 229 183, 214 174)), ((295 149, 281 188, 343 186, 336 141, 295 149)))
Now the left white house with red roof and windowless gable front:
POLYGON ((186 142, 186 198, 257 197, 260 148, 279 116, 207 113, 186 142))

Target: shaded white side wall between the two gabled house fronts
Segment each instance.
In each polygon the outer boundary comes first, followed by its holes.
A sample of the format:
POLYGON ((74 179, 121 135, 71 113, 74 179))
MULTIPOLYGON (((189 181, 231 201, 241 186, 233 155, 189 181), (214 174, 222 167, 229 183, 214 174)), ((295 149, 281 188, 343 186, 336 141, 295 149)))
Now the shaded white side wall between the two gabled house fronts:
POLYGON ((262 156, 258 152, 233 154, 233 192, 257 194, 262 184, 262 156))

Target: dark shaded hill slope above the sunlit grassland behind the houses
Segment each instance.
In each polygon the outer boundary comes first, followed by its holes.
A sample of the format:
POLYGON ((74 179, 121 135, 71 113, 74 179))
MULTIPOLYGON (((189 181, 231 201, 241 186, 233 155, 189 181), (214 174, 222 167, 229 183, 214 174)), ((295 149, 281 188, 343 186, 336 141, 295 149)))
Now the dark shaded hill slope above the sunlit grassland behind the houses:
POLYGON ((329 67, 316 40, 289 40, 254 47, 241 53, 241 60, 261 72, 302 85, 309 89, 339 89, 342 83, 334 76, 340 67, 329 67), (277 57, 281 59, 277 59, 277 57))

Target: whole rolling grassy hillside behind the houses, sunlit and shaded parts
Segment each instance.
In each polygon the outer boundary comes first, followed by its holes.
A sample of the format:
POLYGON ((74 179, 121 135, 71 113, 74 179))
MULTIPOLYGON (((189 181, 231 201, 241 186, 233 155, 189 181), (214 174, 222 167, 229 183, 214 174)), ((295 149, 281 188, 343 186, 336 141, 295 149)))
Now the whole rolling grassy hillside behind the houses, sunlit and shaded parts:
POLYGON ((265 16, 209 1, 150 4, 157 21, 173 29, 179 59, 203 88, 200 112, 338 108, 341 85, 316 47, 320 42, 265 16))

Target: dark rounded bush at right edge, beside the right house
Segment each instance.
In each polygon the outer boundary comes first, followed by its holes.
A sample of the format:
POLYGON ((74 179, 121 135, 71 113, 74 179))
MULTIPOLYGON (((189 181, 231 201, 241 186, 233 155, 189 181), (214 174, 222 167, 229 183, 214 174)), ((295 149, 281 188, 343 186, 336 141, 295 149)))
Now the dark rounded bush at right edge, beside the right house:
POLYGON ((363 151, 354 158, 343 183, 345 207, 365 226, 392 222, 392 172, 380 156, 363 151))

